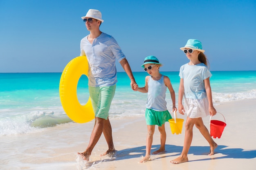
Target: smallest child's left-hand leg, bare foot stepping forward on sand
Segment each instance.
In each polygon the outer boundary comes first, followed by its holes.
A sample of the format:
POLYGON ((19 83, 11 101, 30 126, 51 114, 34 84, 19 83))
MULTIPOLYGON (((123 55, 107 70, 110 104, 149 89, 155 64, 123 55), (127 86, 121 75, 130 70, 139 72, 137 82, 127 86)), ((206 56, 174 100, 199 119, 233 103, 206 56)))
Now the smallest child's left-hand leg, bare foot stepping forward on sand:
POLYGON ((150 150, 153 143, 153 135, 155 132, 155 125, 148 125, 148 134, 146 141, 146 155, 140 162, 145 162, 150 160, 150 150))

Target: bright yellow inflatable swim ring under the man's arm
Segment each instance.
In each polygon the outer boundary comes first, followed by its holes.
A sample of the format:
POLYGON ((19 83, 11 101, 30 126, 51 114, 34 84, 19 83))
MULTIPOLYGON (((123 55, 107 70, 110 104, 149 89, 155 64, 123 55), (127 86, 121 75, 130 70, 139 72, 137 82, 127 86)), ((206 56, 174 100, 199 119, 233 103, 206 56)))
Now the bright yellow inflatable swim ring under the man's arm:
POLYGON ((86 123, 94 119, 90 97, 84 106, 77 99, 77 84, 82 75, 88 76, 88 60, 86 56, 76 57, 65 66, 59 86, 63 109, 67 116, 77 123, 86 123))

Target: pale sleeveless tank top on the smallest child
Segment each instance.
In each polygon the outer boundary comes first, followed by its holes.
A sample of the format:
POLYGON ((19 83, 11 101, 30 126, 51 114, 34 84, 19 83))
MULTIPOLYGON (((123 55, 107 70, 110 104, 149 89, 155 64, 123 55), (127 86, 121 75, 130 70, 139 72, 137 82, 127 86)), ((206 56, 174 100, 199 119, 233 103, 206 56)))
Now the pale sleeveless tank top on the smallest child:
POLYGON ((159 80, 153 80, 150 76, 148 79, 148 100, 146 108, 156 111, 167 110, 165 96, 166 86, 164 84, 164 75, 159 80))

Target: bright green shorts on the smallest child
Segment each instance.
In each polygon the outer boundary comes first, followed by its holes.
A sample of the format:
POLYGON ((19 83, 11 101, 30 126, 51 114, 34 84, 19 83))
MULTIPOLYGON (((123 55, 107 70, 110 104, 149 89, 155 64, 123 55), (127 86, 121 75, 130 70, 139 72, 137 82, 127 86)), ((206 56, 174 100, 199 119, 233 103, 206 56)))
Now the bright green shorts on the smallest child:
POLYGON ((146 123, 147 125, 162 126, 166 121, 172 119, 172 116, 168 110, 155 111, 153 109, 146 108, 146 123))

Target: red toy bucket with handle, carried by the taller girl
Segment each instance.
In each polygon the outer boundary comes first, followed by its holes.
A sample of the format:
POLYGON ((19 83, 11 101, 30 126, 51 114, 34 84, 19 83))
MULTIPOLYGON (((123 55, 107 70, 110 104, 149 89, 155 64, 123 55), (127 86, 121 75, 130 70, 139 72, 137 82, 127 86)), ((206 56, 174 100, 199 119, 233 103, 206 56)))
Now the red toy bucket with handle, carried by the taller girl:
MULTIPOLYGON (((219 113, 219 112, 218 112, 219 113)), ((220 113, 221 114, 221 113, 220 113)), ((221 114, 222 115, 222 114, 221 114)), ((223 115, 222 115, 223 116, 223 115)), ((219 121, 219 120, 211 120, 210 117, 210 131, 211 131, 211 137, 216 138, 218 137, 220 139, 222 132, 225 128, 225 126, 227 126, 226 124, 226 120, 225 117, 223 116, 224 121, 219 121)))

